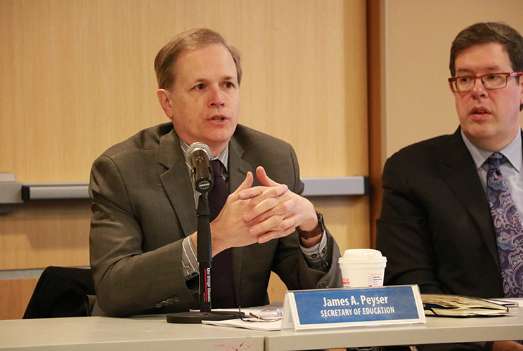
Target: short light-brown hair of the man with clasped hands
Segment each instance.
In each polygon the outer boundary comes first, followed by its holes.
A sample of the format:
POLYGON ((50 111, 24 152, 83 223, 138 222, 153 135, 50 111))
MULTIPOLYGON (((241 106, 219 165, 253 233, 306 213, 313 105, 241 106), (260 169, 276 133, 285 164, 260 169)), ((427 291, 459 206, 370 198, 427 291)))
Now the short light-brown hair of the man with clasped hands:
POLYGON ((206 28, 187 29, 176 35, 169 43, 158 51, 155 58, 155 71, 158 88, 169 89, 176 79, 176 61, 179 56, 195 48, 201 48, 208 44, 221 44, 227 48, 233 57, 238 75, 238 84, 242 80, 242 67, 240 65, 240 53, 221 36, 221 34, 206 28))

